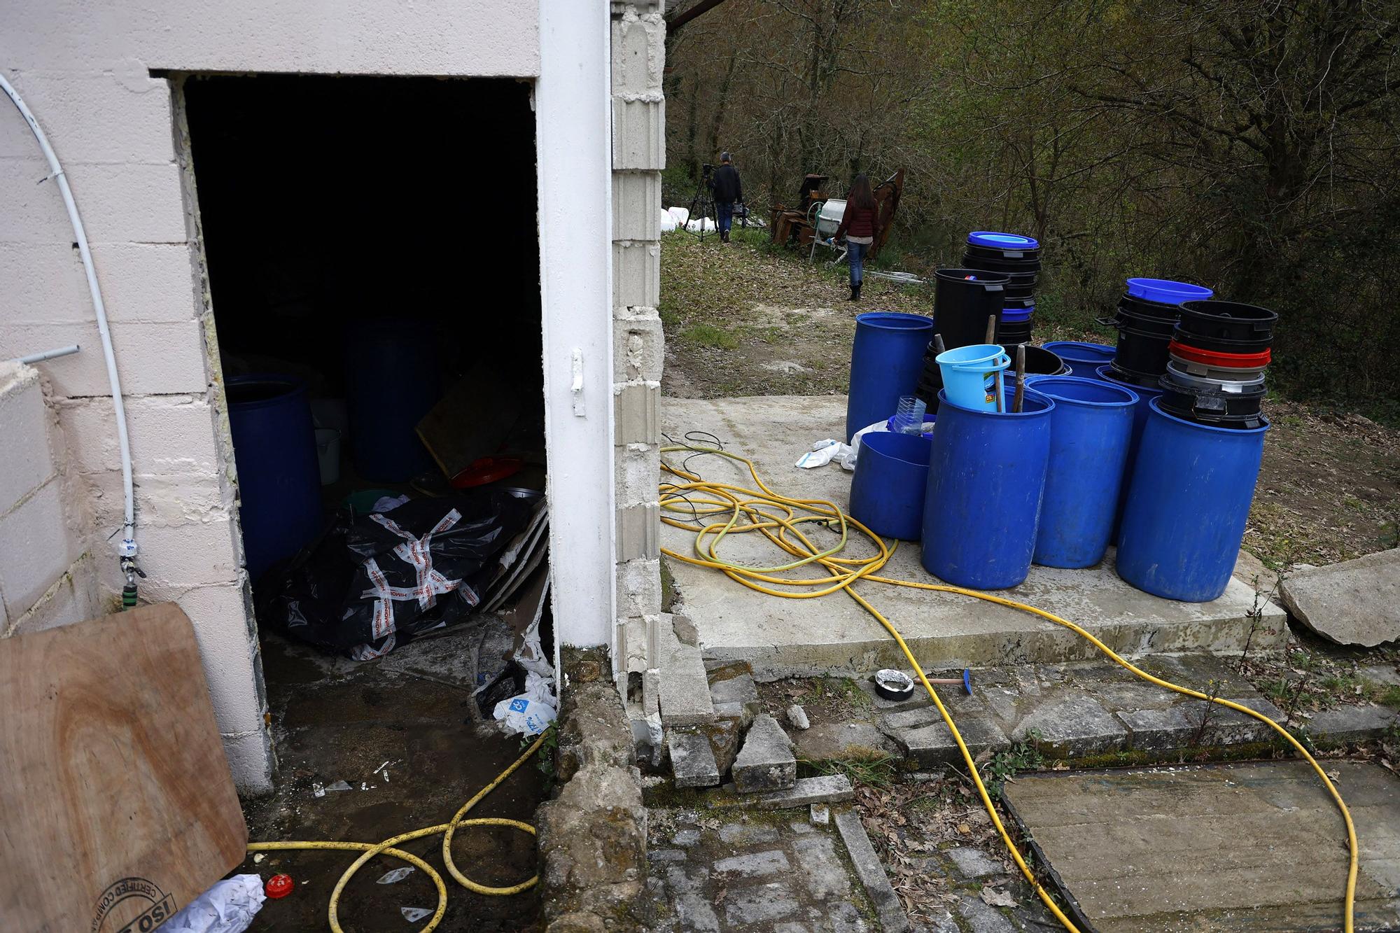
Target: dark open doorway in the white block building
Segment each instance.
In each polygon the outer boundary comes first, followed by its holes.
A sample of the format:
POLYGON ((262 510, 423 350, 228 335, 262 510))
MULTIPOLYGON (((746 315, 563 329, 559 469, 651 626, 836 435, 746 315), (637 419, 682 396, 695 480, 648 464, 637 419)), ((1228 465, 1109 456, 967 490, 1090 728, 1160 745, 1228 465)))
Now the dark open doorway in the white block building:
MULTIPOLYGON (((531 87, 181 90, 283 772, 251 828, 305 796, 288 763, 360 789, 325 838, 433 825, 518 755, 494 705, 552 657, 531 87)), ((529 818, 542 789, 522 780, 493 815, 529 818)), ((484 883, 531 874, 519 835, 483 834, 484 883)), ((363 916, 386 925, 402 894, 363 916)))

